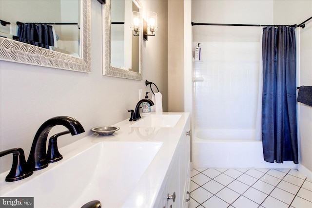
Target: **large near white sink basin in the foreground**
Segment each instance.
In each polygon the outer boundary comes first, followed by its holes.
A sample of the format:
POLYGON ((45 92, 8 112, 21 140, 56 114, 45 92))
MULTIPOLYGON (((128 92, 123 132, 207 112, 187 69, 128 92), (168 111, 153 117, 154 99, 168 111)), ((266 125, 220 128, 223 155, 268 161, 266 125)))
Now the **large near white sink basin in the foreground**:
POLYGON ((34 197, 35 208, 80 208, 92 200, 99 200, 102 208, 122 207, 161 145, 99 142, 69 159, 63 155, 25 182, 1 181, 1 196, 34 197), (13 189, 14 183, 20 185, 13 189))

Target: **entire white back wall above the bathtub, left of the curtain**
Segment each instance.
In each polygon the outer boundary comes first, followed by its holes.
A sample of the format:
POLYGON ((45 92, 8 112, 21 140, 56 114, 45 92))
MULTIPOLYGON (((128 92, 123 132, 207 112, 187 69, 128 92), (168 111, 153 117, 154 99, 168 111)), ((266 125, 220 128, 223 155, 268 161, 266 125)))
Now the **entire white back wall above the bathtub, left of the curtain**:
MULTIPOLYGON (((193 1, 196 23, 272 24, 272 0, 193 1)), ((201 26, 193 30, 193 118, 198 128, 255 129, 260 27, 201 26)))

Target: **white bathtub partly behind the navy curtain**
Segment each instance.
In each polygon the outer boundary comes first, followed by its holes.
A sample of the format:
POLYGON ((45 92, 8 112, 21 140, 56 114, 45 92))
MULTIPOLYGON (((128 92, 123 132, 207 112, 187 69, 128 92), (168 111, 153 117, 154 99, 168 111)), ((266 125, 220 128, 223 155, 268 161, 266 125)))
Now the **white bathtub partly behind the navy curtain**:
POLYGON ((250 129, 195 129, 192 134, 194 168, 297 169, 292 161, 263 160, 262 141, 250 129))

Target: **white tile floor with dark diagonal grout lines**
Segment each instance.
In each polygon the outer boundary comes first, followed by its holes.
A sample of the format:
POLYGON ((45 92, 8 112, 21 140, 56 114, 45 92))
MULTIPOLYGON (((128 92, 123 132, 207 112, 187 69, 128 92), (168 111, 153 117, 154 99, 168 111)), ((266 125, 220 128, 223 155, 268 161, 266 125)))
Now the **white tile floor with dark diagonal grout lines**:
POLYGON ((194 169, 189 208, 312 208, 312 181, 289 169, 194 169))

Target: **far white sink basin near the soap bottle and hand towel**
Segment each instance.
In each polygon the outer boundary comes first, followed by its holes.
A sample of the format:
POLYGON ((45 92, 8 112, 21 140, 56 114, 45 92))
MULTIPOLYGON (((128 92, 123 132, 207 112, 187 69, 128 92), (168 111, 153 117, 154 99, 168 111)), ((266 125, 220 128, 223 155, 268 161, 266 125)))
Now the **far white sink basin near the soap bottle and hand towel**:
POLYGON ((174 127, 180 119, 181 115, 174 114, 151 114, 141 118, 130 127, 174 127))

